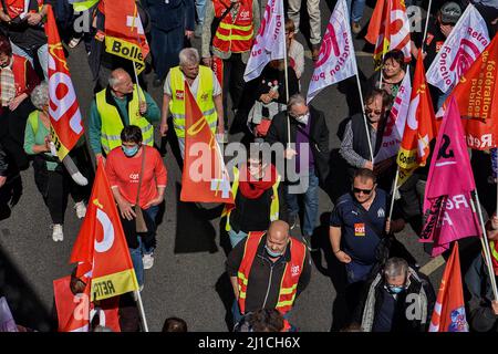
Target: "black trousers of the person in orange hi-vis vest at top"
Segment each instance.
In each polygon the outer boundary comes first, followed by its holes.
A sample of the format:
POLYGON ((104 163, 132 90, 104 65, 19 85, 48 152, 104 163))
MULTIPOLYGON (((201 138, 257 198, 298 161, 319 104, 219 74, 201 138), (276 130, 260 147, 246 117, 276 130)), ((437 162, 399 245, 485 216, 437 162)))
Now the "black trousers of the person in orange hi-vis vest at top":
POLYGON ((228 128, 228 93, 231 98, 231 111, 239 108, 240 98, 243 91, 243 72, 246 64, 242 62, 242 54, 231 54, 224 60, 224 124, 228 128))

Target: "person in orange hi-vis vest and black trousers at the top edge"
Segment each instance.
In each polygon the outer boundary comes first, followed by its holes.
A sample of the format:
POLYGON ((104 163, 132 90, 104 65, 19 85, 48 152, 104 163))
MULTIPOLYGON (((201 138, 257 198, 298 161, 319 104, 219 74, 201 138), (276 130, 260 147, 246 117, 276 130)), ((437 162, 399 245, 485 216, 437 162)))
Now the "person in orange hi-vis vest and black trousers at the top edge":
POLYGON ((228 92, 231 108, 236 111, 242 96, 243 72, 259 25, 258 0, 210 0, 206 3, 201 55, 204 64, 209 67, 212 67, 214 63, 222 63, 220 84, 226 113, 225 131, 228 128, 228 92))

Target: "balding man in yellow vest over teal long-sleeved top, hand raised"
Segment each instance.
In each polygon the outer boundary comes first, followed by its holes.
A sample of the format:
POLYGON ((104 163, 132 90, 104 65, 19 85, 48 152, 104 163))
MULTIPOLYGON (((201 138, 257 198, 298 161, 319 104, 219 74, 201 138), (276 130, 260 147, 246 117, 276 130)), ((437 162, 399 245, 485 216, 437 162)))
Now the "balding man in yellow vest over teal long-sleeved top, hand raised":
POLYGON ((111 73, 108 86, 95 95, 90 108, 90 146, 95 157, 121 146, 121 131, 136 125, 143 144, 154 145, 153 124, 159 122, 159 107, 148 93, 136 84, 124 69, 111 73))

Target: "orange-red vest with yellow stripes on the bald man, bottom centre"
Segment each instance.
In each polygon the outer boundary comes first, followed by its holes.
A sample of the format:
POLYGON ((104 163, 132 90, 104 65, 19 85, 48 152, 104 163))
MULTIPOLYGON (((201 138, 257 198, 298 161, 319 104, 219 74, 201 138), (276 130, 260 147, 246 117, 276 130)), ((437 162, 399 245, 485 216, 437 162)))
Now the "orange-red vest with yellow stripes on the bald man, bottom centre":
MULTIPOLYGON (((243 249, 243 258, 240 263, 237 274, 239 285, 239 309, 240 313, 246 313, 246 296, 249 275, 252 268, 252 262, 258 251, 258 246, 261 242, 264 231, 249 232, 243 249)), ((291 261, 286 264, 283 277, 280 282, 279 300, 276 309, 284 315, 292 309, 298 292, 298 282, 304 267, 307 256, 305 246, 294 238, 290 238, 289 246, 291 252, 291 261)))

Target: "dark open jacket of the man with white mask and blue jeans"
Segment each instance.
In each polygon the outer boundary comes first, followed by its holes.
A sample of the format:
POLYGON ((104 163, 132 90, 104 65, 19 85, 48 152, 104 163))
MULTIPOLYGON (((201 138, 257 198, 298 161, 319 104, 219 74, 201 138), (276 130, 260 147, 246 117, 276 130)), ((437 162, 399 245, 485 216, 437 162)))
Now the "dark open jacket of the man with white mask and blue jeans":
MULTIPOLYGON (((309 106, 310 108, 310 145, 311 152, 314 158, 314 166, 317 170, 317 175, 320 179, 321 184, 324 184, 326 177, 329 175, 329 128, 326 127, 325 115, 322 111, 315 110, 313 106, 309 106)), ((290 143, 295 143, 295 136, 298 133, 299 123, 289 117, 290 121, 290 143)), ((288 143, 288 119, 287 119, 287 111, 277 114, 271 121, 270 128, 268 129, 268 134, 264 138, 270 146, 274 143, 283 144, 283 147, 287 147, 288 143)), ((287 168, 286 168, 287 169, 287 168)), ((286 171, 279 170, 280 175, 284 176, 286 171)), ((286 181, 288 178, 286 176, 286 181)))

